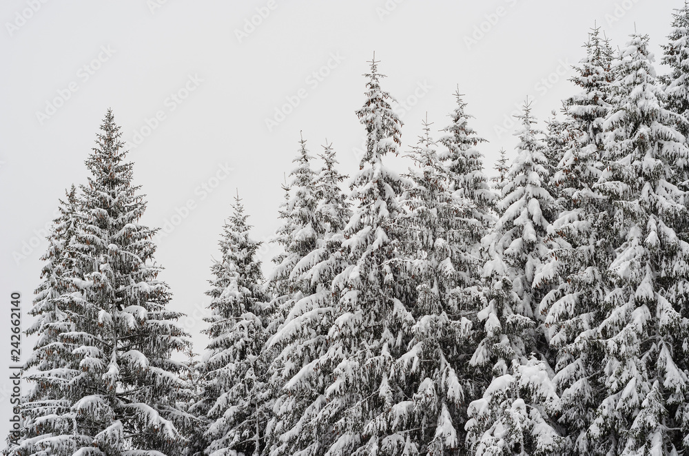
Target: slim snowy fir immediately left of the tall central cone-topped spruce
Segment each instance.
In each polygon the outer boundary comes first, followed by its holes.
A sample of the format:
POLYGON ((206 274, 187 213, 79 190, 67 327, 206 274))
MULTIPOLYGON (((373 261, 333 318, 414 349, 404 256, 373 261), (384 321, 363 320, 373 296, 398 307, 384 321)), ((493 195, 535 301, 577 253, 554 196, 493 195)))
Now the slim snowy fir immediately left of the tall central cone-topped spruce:
POLYGON ((318 204, 313 213, 315 248, 295 266, 294 279, 309 293, 299 292, 284 324, 269 340, 267 349, 278 347, 273 369, 280 372, 274 418, 268 425, 271 455, 325 454, 333 442, 332 424, 323 419, 325 379, 333 366, 327 360, 327 334, 333 324, 333 304, 338 294, 333 278, 345 267, 342 229, 349 205, 340 184, 345 179, 336 169, 336 152, 324 146, 323 167, 314 180, 318 204))

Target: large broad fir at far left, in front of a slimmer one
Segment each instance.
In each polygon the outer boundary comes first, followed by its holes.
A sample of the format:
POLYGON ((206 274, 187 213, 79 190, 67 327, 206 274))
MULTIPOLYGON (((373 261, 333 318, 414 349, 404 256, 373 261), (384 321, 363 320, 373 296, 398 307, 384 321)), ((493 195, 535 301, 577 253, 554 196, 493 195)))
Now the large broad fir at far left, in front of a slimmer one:
POLYGON ((194 422, 178 408, 189 395, 183 364, 170 359, 189 341, 175 322, 182 314, 167 309, 167 284, 156 278, 155 230, 138 222, 145 202, 119 129, 108 110, 63 251, 74 273, 61 278, 61 366, 34 375, 59 403, 37 409, 28 398, 24 407, 37 412, 31 419, 43 434, 23 439, 12 455, 172 456, 194 422))

